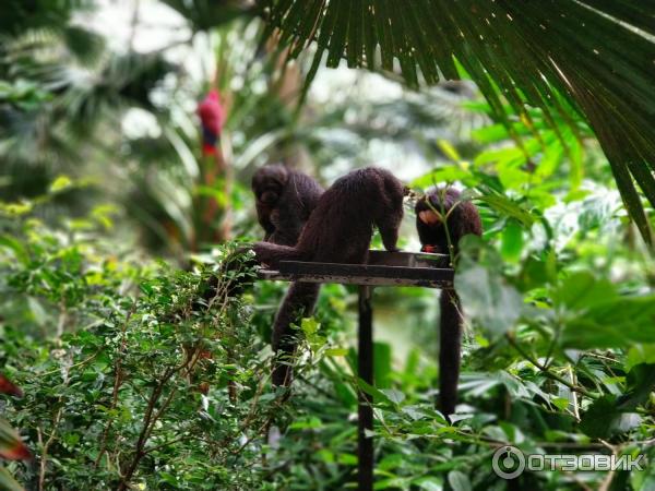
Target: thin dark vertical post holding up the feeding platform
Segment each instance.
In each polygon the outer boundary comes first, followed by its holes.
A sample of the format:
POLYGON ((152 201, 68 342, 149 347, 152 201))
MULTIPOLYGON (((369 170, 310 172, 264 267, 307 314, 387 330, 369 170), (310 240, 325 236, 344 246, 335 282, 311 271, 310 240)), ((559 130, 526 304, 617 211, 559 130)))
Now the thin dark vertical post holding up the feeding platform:
MULTIPOLYGON (((359 287, 359 346, 357 352, 358 374, 366 383, 373 385, 373 310, 371 308, 372 287, 359 287)), ((364 391, 358 394, 358 448, 359 491, 373 489, 373 439, 366 430, 373 430, 373 408, 371 396, 364 391)))

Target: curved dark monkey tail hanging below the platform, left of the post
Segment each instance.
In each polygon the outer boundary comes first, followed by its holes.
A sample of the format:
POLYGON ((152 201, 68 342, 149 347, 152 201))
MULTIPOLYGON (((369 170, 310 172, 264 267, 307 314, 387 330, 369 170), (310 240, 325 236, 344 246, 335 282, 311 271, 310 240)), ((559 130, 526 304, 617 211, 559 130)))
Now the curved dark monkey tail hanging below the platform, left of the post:
POLYGON ((311 315, 319 298, 321 284, 293 283, 287 291, 273 324, 271 345, 275 351, 272 381, 274 385, 289 386, 294 373, 291 368, 296 351, 297 333, 291 324, 298 324, 302 316, 311 315))

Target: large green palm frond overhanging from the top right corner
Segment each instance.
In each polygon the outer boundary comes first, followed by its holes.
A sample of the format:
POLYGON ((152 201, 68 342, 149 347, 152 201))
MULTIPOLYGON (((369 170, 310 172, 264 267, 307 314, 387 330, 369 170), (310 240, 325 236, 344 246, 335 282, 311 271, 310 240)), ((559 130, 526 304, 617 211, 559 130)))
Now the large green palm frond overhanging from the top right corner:
POLYGON ((654 0, 274 0, 266 14, 294 56, 317 45, 309 79, 325 53, 327 67, 400 70, 413 86, 463 69, 510 132, 505 100, 527 121, 526 106, 556 119, 571 104, 653 243, 634 183, 655 206, 654 0))

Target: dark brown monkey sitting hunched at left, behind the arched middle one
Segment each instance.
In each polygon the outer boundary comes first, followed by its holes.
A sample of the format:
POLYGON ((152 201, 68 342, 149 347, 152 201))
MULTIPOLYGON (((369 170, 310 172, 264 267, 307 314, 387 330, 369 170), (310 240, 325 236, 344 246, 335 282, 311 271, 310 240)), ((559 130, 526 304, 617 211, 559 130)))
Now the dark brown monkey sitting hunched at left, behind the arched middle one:
POLYGON ((258 220, 266 232, 264 240, 296 246, 323 188, 309 176, 279 164, 264 166, 254 172, 251 188, 258 220))

